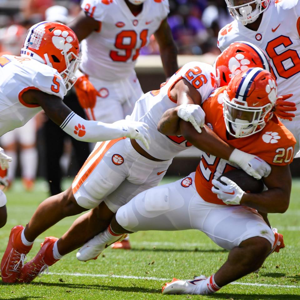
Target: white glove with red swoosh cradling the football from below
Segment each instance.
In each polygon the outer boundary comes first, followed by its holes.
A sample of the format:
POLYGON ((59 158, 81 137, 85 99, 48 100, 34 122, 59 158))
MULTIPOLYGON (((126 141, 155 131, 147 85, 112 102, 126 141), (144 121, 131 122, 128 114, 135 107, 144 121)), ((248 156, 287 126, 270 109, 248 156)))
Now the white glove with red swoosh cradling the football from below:
POLYGON ((238 205, 244 195, 244 191, 231 179, 222 176, 222 182, 227 185, 220 183, 216 179, 212 179, 212 192, 217 194, 218 198, 221 199, 225 204, 238 205))

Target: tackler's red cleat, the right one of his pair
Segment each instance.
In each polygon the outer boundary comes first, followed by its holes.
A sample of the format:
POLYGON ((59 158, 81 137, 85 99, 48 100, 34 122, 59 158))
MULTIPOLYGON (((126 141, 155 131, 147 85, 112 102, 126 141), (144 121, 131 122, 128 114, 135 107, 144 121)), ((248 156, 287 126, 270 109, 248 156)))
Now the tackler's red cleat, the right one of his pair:
POLYGON ((57 237, 46 237, 45 241, 41 244, 41 249, 37 255, 22 267, 19 277, 19 282, 32 282, 38 275, 42 275, 48 267, 52 266, 58 259, 53 257, 53 246, 58 240, 57 237))

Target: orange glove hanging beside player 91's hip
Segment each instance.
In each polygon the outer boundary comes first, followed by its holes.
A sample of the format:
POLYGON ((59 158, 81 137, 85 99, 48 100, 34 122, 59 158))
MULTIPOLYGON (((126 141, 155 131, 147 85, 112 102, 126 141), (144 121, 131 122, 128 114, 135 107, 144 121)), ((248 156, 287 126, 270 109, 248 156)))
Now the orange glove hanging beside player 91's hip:
POLYGON ((86 111, 87 117, 91 119, 88 108, 91 110, 92 118, 95 120, 93 108, 96 104, 96 97, 100 96, 98 91, 86 76, 79 77, 74 84, 80 106, 86 111))

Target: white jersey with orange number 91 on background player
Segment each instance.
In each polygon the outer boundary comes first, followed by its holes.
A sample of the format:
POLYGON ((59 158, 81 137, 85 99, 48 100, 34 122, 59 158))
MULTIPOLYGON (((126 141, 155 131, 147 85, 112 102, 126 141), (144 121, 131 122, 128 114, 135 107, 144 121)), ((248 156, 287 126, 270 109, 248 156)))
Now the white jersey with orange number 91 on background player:
POLYGON ((83 10, 99 31, 81 42, 81 70, 98 79, 118 81, 131 75, 141 47, 169 13, 168 0, 146 0, 134 16, 124 0, 83 0, 83 10))

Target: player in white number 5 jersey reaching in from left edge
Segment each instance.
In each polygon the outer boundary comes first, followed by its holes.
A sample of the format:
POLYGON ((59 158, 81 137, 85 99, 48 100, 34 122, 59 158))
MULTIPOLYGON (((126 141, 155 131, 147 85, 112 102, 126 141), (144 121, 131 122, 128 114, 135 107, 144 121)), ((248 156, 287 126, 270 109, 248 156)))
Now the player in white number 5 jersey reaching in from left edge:
MULTIPOLYGON (((71 88, 81 53, 74 32, 57 22, 41 22, 27 33, 21 56, 0 57, 0 136, 23 126, 42 109, 72 137, 104 141, 127 135, 141 138, 148 147, 148 126, 121 120, 106 124, 87 121, 72 112, 62 99, 71 88)), ((0 148, 0 167, 10 158, 0 148)), ((6 222, 6 197, 0 192, 0 225, 6 222)), ((1 227, 2 227, 1 226, 1 227)))

